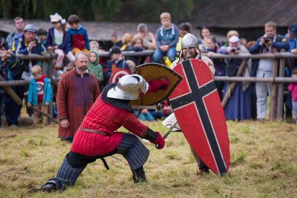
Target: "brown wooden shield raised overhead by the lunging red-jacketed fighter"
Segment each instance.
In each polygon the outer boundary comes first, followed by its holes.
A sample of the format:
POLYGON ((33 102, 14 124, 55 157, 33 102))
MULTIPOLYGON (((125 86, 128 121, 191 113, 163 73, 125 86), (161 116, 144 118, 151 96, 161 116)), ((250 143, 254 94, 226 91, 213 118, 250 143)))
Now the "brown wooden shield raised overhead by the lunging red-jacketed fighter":
POLYGON ((169 81, 169 87, 166 91, 160 90, 156 93, 148 93, 140 97, 138 100, 131 100, 131 105, 154 105, 162 102, 170 96, 174 88, 182 81, 183 77, 169 67, 158 63, 146 63, 138 65, 133 74, 141 75, 147 82, 151 80, 166 77, 169 81))

